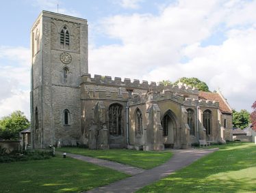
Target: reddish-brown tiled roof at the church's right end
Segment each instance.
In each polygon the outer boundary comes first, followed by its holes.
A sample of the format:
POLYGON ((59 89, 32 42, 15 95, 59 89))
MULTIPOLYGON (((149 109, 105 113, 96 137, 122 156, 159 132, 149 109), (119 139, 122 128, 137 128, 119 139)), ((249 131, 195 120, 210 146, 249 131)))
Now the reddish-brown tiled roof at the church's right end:
POLYGON ((205 91, 199 91, 199 100, 215 100, 219 102, 219 108, 221 113, 232 114, 232 110, 229 104, 225 101, 220 93, 210 93, 205 91))

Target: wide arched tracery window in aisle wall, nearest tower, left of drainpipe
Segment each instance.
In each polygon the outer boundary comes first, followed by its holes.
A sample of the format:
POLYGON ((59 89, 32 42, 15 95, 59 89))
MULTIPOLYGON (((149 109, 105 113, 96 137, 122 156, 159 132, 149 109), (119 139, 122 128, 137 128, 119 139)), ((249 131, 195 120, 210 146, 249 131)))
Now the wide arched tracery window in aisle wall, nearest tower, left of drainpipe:
POLYGON ((120 104, 112 104, 109 108, 110 134, 114 136, 123 135, 123 107, 120 104))

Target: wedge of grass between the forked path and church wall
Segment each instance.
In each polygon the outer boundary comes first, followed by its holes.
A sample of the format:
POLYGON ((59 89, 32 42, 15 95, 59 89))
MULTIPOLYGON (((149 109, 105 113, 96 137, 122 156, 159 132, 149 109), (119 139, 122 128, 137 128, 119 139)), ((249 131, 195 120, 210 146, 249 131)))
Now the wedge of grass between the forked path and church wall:
POLYGON ((62 147, 57 151, 76 153, 94 158, 111 160, 138 168, 154 168, 170 159, 170 151, 136 151, 129 149, 89 150, 78 147, 62 147))

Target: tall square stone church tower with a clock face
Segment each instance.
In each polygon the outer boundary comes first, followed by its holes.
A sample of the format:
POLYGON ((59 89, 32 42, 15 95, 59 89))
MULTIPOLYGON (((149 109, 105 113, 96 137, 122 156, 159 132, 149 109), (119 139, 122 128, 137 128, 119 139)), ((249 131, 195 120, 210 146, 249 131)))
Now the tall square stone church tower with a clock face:
POLYGON ((31 136, 34 148, 81 134, 80 79, 88 73, 87 20, 42 11, 31 29, 31 136))

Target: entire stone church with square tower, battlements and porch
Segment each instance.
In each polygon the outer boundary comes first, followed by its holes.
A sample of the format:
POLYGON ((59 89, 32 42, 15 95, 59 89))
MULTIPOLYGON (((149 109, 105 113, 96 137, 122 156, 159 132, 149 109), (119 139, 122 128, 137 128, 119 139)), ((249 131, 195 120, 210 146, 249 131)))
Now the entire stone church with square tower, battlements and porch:
MULTIPOLYGON (((182 76, 182 74, 181 74, 182 76)), ((87 20, 43 11, 31 29, 32 147, 190 148, 232 140, 221 93, 88 74, 87 20)))

